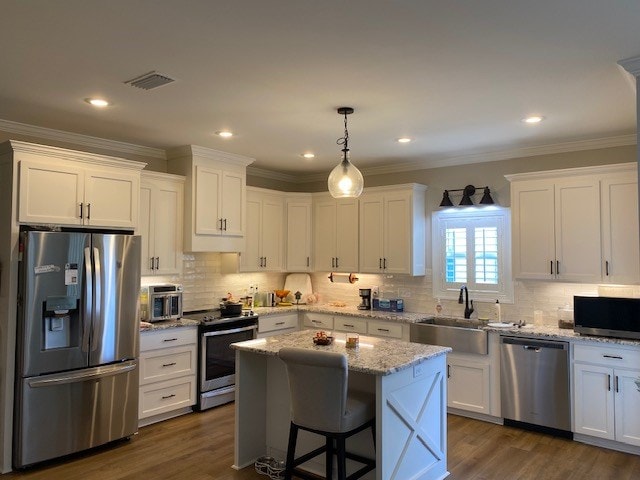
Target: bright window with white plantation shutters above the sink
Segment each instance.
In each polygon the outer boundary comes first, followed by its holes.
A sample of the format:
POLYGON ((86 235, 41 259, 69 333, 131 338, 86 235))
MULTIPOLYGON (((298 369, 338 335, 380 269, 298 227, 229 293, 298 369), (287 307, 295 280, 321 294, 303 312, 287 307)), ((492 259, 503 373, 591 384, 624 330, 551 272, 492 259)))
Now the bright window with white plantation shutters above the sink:
POLYGON ((434 297, 458 298, 466 285, 474 299, 512 303, 510 228, 506 208, 434 212, 434 297))

